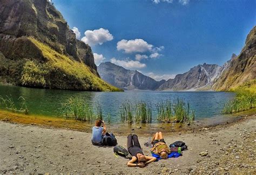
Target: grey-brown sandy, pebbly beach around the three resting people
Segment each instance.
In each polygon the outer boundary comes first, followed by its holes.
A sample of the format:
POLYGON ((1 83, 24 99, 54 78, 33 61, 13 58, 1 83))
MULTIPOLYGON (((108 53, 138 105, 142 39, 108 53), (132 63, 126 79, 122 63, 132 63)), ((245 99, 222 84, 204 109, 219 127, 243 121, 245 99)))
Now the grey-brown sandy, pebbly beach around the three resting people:
MULTIPOLYGON (((127 167, 127 159, 114 156, 112 147, 93 146, 90 133, 0 121, 0 174, 255 174, 255 125, 252 115, 210 129, 169 133, 167 144, 187 144, 183 156, 139 168, 127 167), (199 156, 202 151, 207 156, 199 156)), ((138 136, 145 155, 151 155, 143 145, 149 135, 138 136)), ((126 136, 116 138, 126 147, 126 136)))

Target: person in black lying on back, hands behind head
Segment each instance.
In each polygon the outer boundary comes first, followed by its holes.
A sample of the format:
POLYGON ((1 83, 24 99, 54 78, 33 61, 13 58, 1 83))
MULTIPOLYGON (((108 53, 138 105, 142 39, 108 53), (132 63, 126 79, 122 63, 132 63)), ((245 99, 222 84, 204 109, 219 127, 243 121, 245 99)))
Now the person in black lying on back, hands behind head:
POLYGON ((144 156, 142 148, 139 144, 139 139, 137 135, 129 135, 127 137, 127 149, 132 155, 132 159, 127 163, 128 166, 139 166, 145 167, 147 164, 156 161, 155 157, 144 156))

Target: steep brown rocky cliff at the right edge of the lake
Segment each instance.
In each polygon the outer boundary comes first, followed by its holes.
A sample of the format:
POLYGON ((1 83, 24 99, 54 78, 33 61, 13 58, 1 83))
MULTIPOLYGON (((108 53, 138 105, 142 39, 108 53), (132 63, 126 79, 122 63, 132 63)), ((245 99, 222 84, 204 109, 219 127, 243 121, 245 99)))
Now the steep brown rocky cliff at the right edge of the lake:
POLYGON ((230 90, 254 79, 256 79, 256 26, 248 34, 241 53, 231 59, 220 78, 214 83, 213 89, 230 90))

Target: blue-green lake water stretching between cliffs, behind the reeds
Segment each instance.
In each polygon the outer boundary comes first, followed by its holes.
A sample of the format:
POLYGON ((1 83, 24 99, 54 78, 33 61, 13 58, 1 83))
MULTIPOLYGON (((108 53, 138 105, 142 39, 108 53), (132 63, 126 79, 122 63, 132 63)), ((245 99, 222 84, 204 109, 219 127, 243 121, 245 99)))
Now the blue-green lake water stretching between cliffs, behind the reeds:
MULTIPOLYGON (((100 104, 103 117, 111 115, 111 121, 119 123, 120 106, 123 102, 145 101, 151 103, 154 109, 153 118, 156 118, 155 104, 166 99, 177 97, 190 102, 191 109, 195 110, 196 120, 216 117, 221 113, 224 103, 234 97, 234 93, 227 92, 154 92, 154 91, 125 91, 125 92, 81 92, 71 90, 35 89, 16 86, 0 85, 0 95, 12 96, 17 102, 19 96, 26 99, 30 114, 61 117, 62 102, 70 96, 82 97, 87 103, 96 106, 100 104)), ((0 108, 4 109, 0 104, 0 108)), ((153 120, 156 122, 156 120, 153 120)))

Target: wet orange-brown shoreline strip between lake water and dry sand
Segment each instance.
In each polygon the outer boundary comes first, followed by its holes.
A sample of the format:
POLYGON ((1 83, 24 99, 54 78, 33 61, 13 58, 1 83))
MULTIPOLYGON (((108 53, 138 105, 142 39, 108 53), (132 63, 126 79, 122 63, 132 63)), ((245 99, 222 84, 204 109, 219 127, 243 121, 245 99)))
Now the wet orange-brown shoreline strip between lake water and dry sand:
MULTIPOLYGON (((131 132, 136 132, 138 134, 153 134, 154 132, 157 132, 159 130, 170 134, 172 132, 187 132, 202 129, 208 130, 210 128, 216 128, 218 126, 238 123, 245 118, 253 116, 255 114, 256 108, 236 114, 220 115, 216 117, 196 120, 193 121, 190 125, 188 125, 187 123, 139 123, 132 125, 125 123, 106 123, 106 125, 109 131, 117 135, 126 135, 131 132)), ((94 125, 94 122, 83 122, 61 117, 25 115, 19 113, 12 113, 6 110, 0 110, 0 121, 24 125, 39 125, 46 128, 63 128, 83 132, 91 132, 91 128, 94 125)))

